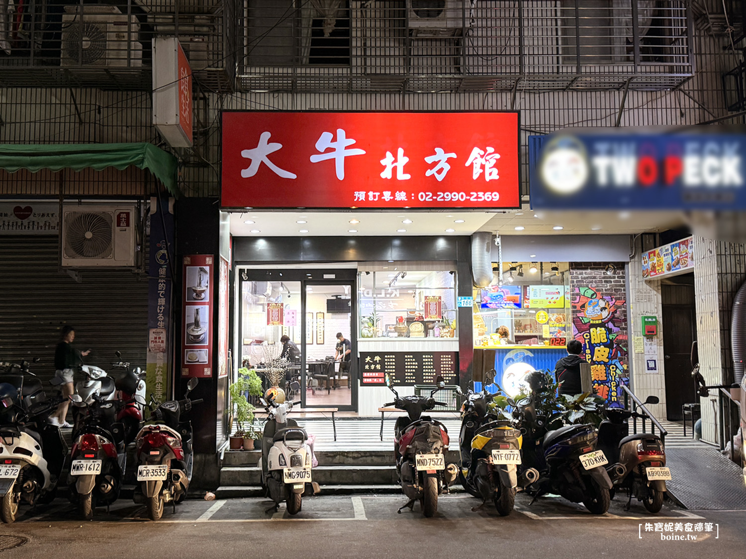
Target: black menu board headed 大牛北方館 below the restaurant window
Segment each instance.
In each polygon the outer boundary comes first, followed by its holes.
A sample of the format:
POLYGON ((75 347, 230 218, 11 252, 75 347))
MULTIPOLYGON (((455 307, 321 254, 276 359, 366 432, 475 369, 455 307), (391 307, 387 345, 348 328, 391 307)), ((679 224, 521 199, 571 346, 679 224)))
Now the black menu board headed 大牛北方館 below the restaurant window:
POLYGON ((386 374, 393 385, 435 385, 438 375, 447 385, 459 382, 458 353, 435 352, 360 352, 363 385, 385 385, 386 374))

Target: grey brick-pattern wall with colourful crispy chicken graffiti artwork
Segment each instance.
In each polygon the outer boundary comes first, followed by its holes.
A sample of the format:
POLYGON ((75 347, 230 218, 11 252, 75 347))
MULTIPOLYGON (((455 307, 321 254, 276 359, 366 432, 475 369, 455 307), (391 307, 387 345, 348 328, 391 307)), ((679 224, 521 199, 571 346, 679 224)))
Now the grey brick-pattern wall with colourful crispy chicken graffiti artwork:
POLYGON ((629 384, 627 283, 623 262, 570 264, 573 337, 583 344, 593 386, 611 405, 624 405, 621 385, 629 384))

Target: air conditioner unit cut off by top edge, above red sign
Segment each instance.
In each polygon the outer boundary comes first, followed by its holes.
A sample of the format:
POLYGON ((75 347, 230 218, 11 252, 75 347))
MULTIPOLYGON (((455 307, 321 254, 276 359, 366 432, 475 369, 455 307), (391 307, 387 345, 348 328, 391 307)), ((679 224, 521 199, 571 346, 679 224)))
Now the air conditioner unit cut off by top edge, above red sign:
POLYGON ((452 37, 471 24, 468 0, 407 0, 409 28, 418 37, 452 37), (464 11, 466 10, 466 21, 464 11))

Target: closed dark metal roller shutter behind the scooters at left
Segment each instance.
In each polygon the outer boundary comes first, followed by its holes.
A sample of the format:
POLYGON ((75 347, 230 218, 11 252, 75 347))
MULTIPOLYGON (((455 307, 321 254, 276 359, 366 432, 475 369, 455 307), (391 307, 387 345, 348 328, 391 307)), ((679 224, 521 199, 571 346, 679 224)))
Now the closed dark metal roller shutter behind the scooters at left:
POLYGON ((54 376, 54 348, 65 324, 75 347, 104 370, 114 352, 145 369, 148 280, 130 270, 84 270, 75 282, 59 270, 56 236, 0 237, 0 361, 40 357, 31 371, 54 376))

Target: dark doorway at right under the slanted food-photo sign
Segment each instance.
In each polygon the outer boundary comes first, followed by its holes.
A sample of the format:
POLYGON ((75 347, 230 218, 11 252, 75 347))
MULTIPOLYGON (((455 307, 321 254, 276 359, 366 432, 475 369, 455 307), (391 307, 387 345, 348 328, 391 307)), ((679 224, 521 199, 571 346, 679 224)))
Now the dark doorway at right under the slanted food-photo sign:
MULTIPOLYGON (((693 274, 686 274, 680 281, 686 282, 690 276, 693 279, 693 274)), ((690 361, 692 341, 697 339, 694 285, 664 284, 661 295, 666 416, 670 421, 680 421, 681 406, 698 402, 690 361)))

